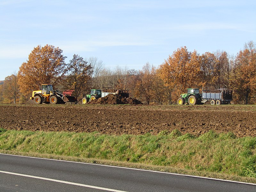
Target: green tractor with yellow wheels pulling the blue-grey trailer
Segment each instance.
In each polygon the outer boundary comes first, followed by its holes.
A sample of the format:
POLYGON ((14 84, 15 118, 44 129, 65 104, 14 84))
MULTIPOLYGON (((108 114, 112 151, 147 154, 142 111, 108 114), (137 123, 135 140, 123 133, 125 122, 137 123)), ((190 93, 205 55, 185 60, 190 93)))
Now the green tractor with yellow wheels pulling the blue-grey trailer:
POLYGON ((199 105, 202 104, 202 96, 199 93, 199 89, 187 89, 188 93, 180 95, 180 98, 177 100, 178 105, 199 105))

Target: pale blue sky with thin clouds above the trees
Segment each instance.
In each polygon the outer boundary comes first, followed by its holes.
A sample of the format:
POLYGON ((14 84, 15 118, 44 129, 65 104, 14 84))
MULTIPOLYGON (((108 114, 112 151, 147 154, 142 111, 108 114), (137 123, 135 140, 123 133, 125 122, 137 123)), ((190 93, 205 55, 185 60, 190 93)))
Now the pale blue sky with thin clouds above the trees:
POLYGON ((158 67, 182 46, 226 51, 256 42, 255 0, 0 0, 0 80, 17 73, 37 45, 106 68, 158 67))

